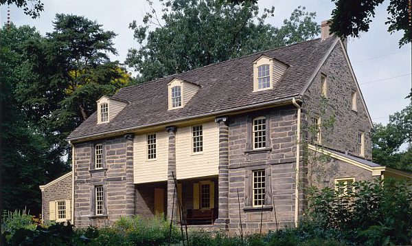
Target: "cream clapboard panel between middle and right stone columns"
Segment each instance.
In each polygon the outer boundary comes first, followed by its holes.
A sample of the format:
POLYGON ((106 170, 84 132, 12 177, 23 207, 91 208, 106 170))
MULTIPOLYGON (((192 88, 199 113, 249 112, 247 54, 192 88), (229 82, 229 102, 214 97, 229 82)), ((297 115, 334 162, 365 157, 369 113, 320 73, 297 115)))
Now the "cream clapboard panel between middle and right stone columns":
POLYGON ((203 153, 192 153, 192 126, 178 128, 176 132, 177 179, 218 175, 219 129, 218 123, 203 123, 203 153))

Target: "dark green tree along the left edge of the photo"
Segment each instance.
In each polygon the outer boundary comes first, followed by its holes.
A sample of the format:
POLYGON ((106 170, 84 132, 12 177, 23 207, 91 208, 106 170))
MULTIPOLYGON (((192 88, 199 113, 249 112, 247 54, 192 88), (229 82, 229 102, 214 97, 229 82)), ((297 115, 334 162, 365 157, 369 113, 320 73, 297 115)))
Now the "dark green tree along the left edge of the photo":
POLYGON ((67 170, 65 161, 36 124, 25 117, 15 91, 23 72, 23 47, 41 36, 32 27, 10 25, 0 30, 1 207, 40 213, 39 185, 67 170))

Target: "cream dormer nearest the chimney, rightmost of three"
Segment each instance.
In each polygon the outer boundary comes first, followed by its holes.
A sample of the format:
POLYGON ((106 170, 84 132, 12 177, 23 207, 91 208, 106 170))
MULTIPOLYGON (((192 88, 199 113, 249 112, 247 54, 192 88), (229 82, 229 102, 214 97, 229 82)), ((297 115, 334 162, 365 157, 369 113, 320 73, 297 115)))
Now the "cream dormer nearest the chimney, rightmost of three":
POLYGON ((253 91, 272 89, 282 78, 288 65, 268 56, 260 56, 253 62, 253 91))

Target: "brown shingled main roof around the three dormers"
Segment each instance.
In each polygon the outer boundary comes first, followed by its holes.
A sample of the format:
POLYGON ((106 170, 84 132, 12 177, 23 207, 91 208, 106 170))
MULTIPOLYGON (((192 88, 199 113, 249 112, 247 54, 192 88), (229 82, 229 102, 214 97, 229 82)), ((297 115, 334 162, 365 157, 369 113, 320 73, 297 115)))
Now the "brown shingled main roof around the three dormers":
POLYGON ((113 120, 97 124, 95 112, 67 139, 79 140, 299 96, 334 41, 336 38, 323 41, 317 38, 125 87, 112 98, 129 104, 113 120), (289 67, 273 89, 253 93, 252 63, 262 55, 275 58, 289 67), (193 82, 201 88, 185 107, 168 111, 168 82, 174 78, 193 82))

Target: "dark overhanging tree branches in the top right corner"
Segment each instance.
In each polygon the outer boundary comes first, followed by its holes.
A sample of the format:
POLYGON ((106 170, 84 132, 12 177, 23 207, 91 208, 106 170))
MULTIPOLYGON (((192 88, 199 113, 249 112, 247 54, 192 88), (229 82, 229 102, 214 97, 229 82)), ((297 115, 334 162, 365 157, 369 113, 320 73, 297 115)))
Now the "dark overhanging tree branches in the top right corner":
MULTIPOLYGON (((330 32, 346 38, 347 36, 358 37, 360 32, 367 32, 369 24, 375 17, 375 8, 384 0, 332 0, 336 8, 332 10, 332 25, 330 32)), ((385 22, 388 32, 403 31, 399 46, 406 45, 412 41, 410 0, 389 0, 387 8, 388 17, 385 22)))

